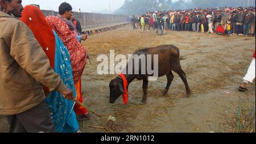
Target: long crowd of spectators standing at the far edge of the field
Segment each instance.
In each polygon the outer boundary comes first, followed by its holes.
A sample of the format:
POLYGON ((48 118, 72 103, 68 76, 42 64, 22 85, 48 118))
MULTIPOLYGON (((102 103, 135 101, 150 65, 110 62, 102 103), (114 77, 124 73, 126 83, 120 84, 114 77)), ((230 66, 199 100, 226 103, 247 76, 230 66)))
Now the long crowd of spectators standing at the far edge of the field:
POLYGON ((142 16, 133 16, 134 29, 141 32, 159 29, 222 33, 230 35, 255 35, 255 7, 222 7, 219 9, 189 9, 148 11, 142 16))

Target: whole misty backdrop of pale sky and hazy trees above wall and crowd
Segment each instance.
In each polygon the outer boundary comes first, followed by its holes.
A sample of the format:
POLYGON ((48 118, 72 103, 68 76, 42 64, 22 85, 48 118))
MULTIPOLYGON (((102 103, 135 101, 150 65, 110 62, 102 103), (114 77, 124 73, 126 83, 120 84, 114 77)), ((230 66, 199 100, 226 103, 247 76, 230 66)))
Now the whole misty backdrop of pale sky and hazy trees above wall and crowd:
MULTIPOLYGON (((101 14, 141 15, 146 11, 158 10, 185 10, 200 7, 235 7, 247 6, 248 0, 23 0, 24 6, 30 4, 40 5, 42 10, 58 11, 62 2, 68 2, 73 11, 81 9, 82 12, 101 14)), ((250 6, 255 6, 255 0, 250 0, 250 6)))

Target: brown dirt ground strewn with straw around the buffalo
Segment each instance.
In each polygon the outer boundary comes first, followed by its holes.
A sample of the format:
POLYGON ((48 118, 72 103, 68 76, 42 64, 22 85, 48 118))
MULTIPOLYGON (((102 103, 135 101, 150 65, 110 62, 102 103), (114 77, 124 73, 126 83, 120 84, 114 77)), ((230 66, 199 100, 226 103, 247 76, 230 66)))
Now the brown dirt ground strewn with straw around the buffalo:
MULTIPOLYGON (((92 118, 80 122, 82 132, 255 133, 255 82, 249 84, 247 92, 237 90, 252 60, 255 37, 173 31, 157 36, 154 31, 140 33, 126 26, 89 36, 82 44, 91 60, 82 75, 84 103, 101 115, 90 112, 92 118), (181 67, 187 73, 191 98, 185 98, 184 84, 175 73, 166 96, 162 91, 167 79, 162 77, 149 83, 146 104, 140 103, 142 81, 131 82, 127 105, 122 104, 121 98, 110 104, 109 82, 115 75, 97 74, 97 56, 109 55, 109 50, 127 56, 162 44, 177 46, 181 56, 186 57, 181 67), (242 113, 238 122, 243 129, 237 129, 238 112, 242 113), (115 117, 115 122, 109 121, 109 116, 115 117)), ((8 132, 4 118, 0 119, 0 132, 8 132)))

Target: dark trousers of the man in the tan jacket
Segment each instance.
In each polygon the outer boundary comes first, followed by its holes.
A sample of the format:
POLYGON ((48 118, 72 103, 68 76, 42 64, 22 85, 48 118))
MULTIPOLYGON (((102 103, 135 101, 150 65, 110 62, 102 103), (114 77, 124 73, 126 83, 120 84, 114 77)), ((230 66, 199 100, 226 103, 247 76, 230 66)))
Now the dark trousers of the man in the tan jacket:
POLYGON ((18 115, 6 116, 10 125, 10 133, 54 133, 55 128, 51 120, 48 106, 42 103, 18 115))

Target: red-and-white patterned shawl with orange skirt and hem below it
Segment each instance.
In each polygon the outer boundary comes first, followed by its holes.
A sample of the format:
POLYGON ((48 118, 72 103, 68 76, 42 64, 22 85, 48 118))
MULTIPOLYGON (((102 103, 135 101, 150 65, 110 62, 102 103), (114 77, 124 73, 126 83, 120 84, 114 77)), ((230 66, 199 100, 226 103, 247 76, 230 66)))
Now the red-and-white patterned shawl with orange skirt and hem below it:
MULTIPOLYGON (((86 50, 77 40, 76 35, 69 29, 68 25, 58 18, 57 16, 47 16, 46 20, 48 24, 55 29, 57 35, 67 46, 69 54, 71 56, 73 79, 76 86, 77 100, 83 103, 81 92, 81 75, 84 71, 86 62, 86 50)), ((87 115, 88 111, 81 105, 76 104, 74 111, 76 115, 87 115)))

